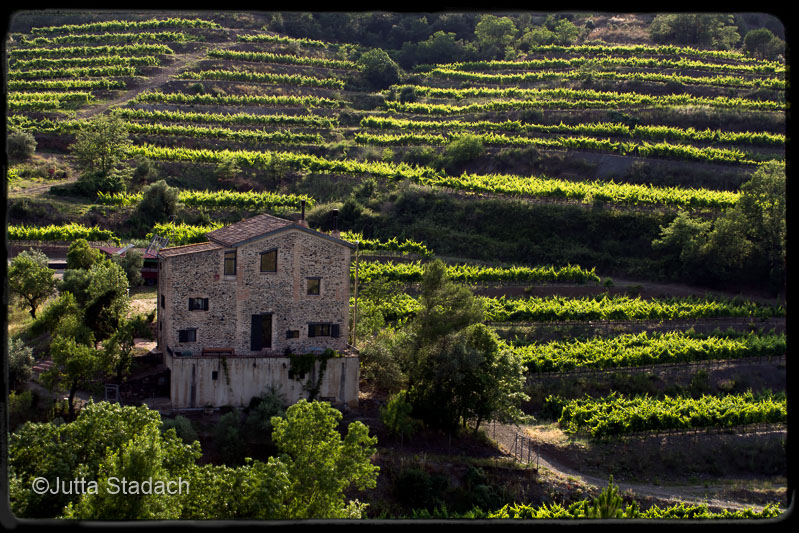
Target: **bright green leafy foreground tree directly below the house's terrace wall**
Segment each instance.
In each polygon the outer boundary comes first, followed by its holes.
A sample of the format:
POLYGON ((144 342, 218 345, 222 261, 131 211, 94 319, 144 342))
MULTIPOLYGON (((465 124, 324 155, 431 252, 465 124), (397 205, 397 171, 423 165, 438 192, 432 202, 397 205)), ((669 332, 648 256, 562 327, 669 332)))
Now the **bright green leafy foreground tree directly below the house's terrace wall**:
POLYGON ((272 419, 272 438, 290 479, 281 518, 360 517, 363 505, 345 502, 344 491, 374 488, 379 468, 371 463, 376 437, 352 422, 342 439, 336 430, 341 413, 325 402, 300 400, 286 417, 272 419))

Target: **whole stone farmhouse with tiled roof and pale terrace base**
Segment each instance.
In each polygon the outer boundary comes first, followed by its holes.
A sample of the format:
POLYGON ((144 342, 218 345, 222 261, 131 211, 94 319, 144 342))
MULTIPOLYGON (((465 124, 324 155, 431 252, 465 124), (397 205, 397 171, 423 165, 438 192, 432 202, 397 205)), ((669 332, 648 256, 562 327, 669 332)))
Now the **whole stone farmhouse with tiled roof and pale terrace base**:
POLYGON ((247 406, 270 387, 289 404, 357 405, 359 358, 347 343, 355 245, 268 214, 206 236, 158 253, 157 350, 172 408, 247 406))

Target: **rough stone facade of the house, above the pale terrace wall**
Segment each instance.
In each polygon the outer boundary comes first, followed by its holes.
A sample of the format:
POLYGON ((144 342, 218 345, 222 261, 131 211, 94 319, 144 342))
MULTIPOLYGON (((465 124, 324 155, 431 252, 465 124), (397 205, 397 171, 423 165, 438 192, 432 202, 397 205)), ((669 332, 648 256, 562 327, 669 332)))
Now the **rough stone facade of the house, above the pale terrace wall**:
POLYGON ((277 232, 236 248, 162 257, 159 274, 159 347, 197 355, 232 348, 238 355, 343 351, 349 336, 350 248, 299 229, 277 232), (224 252, 236 250, 236 275, 224 273, 224 252), (261 254, 277 250, 276 272, 261 272, 261 254), (320 279, 320 294, 307 280, 320 279), (164 307, 161 306, 161 295, 164 307), (207 298, 207 310, 189 310, 189 298, 207 298), (251 350, 252 316, 271 314, 271 346, 251 350), (338 326, 338 337, 309 337, 310 323, 338 326), (196 329, 195 342, 178 331, 196 329), (289 331, 296 337, 288 338, 289 331))

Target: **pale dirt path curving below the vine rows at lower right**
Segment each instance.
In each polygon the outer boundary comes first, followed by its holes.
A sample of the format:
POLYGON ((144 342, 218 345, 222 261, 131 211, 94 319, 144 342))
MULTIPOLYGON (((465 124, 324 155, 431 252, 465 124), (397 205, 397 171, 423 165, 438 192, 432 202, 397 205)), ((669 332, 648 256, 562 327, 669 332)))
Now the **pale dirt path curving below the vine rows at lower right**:
MULTIPOLYGON (((526 437, 530 436, 530 433, 524 426, 519 427, 505 424, 496 424, 496 427, 491 426, 491 429, 486 429, 486 433, 496 440, 500 449, 509 454, 512 454, 514 439, 517 433, 526 437)), ((557 462, 549 456, 540 455, 537 458, 537 464, 539 476, 545 483, 567 487, 580 486, 590 491, 601 490, 608 484, 608 479, 606 478, 599 478, 579 472, 557 462)), ((720 497, 719 494, 725 489, 725 487, 721 485, 656 486, 626 483, 618 480, 614 480, 614 484, 618 486, 619 491, 622 493, 632 493, 636 496, 651 498, 657 500, 660 505, 674 505, 676 503, 685 502, 695 505, 707 505, 713 508, 732 510, 756 509, 758 511, 762 510, 764 507, 763 505, 733 501, 729 498, 720 497)))

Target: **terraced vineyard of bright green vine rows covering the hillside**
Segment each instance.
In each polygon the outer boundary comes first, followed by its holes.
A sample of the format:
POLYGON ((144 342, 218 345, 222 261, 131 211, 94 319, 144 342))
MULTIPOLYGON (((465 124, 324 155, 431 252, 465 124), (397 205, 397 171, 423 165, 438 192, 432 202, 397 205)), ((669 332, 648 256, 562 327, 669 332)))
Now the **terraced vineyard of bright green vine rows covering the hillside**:
MULTIPOLYGON (((502 340, 528 376, 785 355, 783 333, 755 327, 784 320, 784 302, 610 293, 610 275, 642 284, 681 275, 684 265, 653 245, 664 228, 678 213, 695 217, 694 231, 748 206, 747 180, 785 162, 784 60, 583 38, 527 42, 505 59, 414 64, 376 83, 365 60, 372 47, 303 36, 288 23, 280 31, 273 19, 128 18, 8 35, 10 129, 33 134, 37 153, 72 162, 93 117, 115 117, 131 139, 129 162, 156 169, 127 190, 19 194, 9 200, 22 213, 9 219, 10 240, 141 244, 158 234, 182 245, 255 213, 296 220, 307 208, 312 227, 358 241, 359 312, 379 315, 381 327, 405 327, 419 311, 424 265, 438 256, 451 279, 494 291, 479 300, 497 332, 522 322, 662 329, 708 317, 739 329, 502 340), (144 186, 157 178, 180 188, 179 209, 171 221, 142 223, 144 186), (37 211, 38 201, 53 204, 37 211), (551 287, 575 293, 529 293, 551 287), (608 293, 579 292, 586 287, 608 293)), ((11 166, 9 183, 26 172, 11 166)), ((692 265, 706 278, 727 275, 712 261, 692 265)), ((774 271, 758 266, 764 277, 774 271)), ((609 391, 553 396, 546 409, 565 432, 599 438, 783 423, 784 404, 780 393, 609 391)))

